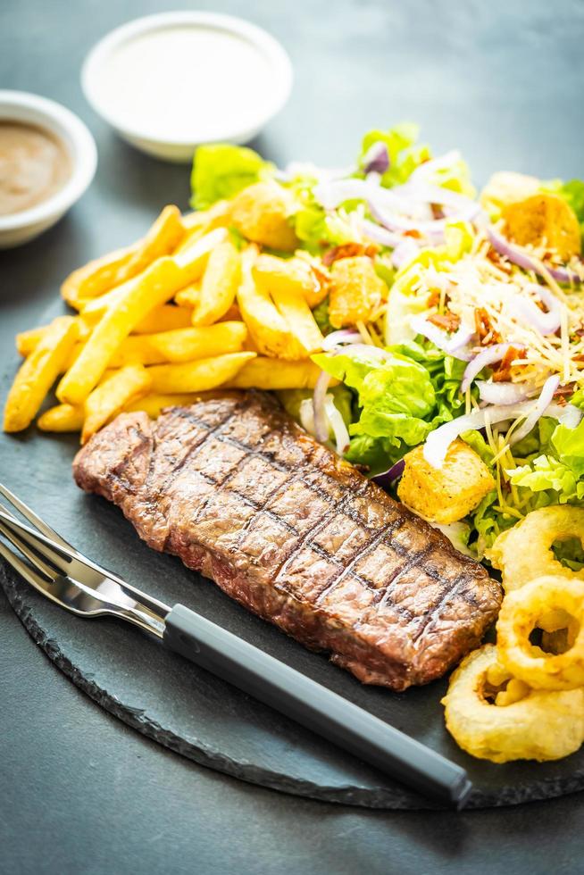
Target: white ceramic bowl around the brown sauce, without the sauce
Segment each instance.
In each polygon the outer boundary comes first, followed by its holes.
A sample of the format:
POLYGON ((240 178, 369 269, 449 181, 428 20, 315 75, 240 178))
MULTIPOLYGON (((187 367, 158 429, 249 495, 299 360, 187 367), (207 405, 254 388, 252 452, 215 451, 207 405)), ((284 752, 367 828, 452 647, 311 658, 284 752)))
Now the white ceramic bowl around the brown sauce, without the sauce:
POLYGON ((0 91, 0 121, 37 125, 61 140, 71 156, 71 177, 62 188, 28 210, 0 216, 0 249, 20 246, 59 221, 94 178, 97 149, 83 122, 61 104, 25 91, 0 91))

